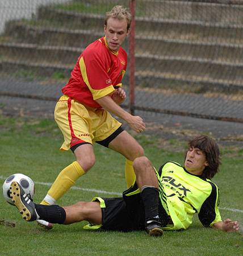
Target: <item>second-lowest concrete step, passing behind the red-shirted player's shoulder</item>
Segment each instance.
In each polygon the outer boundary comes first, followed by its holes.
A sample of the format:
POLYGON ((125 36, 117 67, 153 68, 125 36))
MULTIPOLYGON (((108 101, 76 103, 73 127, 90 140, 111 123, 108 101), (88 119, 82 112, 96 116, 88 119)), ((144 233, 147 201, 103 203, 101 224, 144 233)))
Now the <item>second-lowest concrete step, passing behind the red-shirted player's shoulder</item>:
MULTIPOLYGON (((0 43, 0 55, 5 60, 36 61, 57 65, 73 65, 83 51, 77 47, 39 46, 38 44, 0 43)), ((208 76, 215 79, 243 80, 243 59, 238 63, 185 56, 136 54, 136 71, 173 72, 175 74, 208 76)))

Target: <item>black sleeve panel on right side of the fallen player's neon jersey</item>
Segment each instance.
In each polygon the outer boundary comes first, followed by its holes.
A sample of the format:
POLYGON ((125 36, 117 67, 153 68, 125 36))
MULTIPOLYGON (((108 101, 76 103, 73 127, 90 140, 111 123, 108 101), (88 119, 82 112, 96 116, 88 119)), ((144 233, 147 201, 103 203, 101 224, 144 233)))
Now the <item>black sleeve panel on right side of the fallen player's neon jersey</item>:
POLYGON ((212 191, 210 196, 204 201, 200 212, 198 213, 198 217, 200 222, 202 222, 203 226, 210 226, 210 224, 215 220, 216 212, 215 205, 218 204, 217 200, 217 187, 211 181, 208 181, 212 186, 212 191))

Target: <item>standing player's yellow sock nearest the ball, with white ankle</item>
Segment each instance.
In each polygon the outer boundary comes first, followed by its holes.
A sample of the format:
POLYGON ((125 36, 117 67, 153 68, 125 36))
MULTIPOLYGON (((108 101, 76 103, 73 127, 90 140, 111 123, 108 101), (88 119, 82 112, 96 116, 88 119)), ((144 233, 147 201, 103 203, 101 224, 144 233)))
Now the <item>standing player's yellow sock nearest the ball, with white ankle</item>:
POLYGON ((57 176, 52 187, 47 192, 47 196, 40 204, 52 204, 51 201, 47 200, 48 198, 51 198, 53 201, 60 199, 83 174, 85 174, 85 171, 83 171, 83 168, 77 161, 65 167, 57 176))

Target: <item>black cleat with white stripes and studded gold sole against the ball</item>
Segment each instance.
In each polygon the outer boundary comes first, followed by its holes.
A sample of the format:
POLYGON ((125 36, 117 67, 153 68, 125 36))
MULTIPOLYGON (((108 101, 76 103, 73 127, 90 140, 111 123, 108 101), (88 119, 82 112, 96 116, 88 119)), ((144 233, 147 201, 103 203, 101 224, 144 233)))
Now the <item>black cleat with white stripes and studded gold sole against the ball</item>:
POLYGON ((12 203, 18 208, 20 214, 26 221, 34 221, 37 219, 35 204, 28 198, 24 190, 18 182, 12 181, 10 186, 10 197, 12 203))

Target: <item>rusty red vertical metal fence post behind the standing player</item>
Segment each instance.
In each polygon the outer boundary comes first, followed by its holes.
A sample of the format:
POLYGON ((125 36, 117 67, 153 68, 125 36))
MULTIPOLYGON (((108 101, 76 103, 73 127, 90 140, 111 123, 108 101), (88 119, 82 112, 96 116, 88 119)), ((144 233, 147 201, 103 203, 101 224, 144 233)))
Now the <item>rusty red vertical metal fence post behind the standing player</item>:
POLYGON ((135 112, 135 13, 136 0, 130 0, 130 11, 132 14, 131 32, 129 35, 129 110, 133 115, 135 112))

